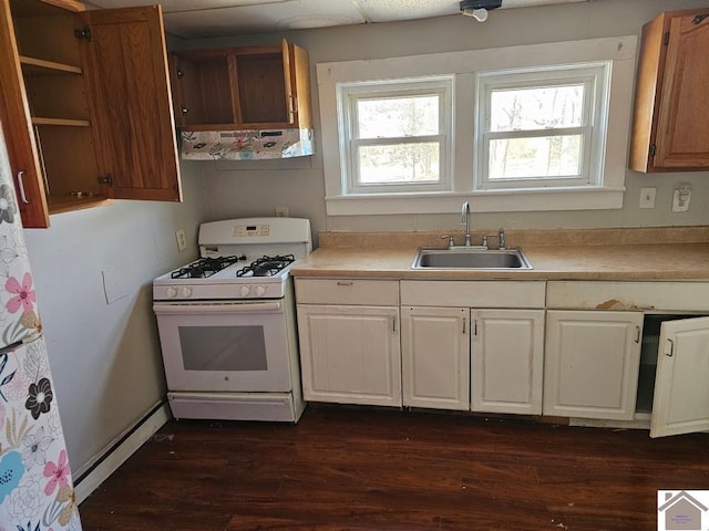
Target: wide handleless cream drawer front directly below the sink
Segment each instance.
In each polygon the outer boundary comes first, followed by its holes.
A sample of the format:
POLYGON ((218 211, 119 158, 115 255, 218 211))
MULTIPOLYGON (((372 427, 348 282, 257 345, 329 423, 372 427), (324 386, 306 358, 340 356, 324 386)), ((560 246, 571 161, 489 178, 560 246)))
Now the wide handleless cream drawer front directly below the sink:
POLYGON ((401 304, 412 306, 544 308, 545 281, 402 281, 401 304))

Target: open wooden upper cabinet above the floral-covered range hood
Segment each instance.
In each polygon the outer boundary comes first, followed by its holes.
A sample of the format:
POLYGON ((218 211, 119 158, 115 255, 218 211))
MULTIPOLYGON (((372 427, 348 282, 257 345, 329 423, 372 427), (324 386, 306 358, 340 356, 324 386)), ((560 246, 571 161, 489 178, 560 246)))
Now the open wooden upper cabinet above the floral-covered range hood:
POLYGON ((308 53, 275 46, 171 53, 177 125, 189 131, 310 128, 308 53))

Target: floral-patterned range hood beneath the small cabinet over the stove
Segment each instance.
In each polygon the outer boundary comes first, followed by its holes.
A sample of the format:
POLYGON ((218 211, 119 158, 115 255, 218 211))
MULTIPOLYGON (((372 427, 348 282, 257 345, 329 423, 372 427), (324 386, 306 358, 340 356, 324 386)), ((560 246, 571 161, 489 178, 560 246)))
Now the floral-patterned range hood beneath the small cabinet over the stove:
POLYGON ((183 131, 182 158, 251 160, 312 155, 312 129, 183 131))

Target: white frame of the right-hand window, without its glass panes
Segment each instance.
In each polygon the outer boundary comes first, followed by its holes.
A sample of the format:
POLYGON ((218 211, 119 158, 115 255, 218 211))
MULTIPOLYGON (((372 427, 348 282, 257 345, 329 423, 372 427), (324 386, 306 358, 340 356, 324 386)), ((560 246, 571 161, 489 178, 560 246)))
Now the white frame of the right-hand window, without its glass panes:
POLYGON ((593 188, 604 186, 604 154, 606 148, 612 61, 594 63, 558 64, 536 69, 495 70, 476 73, 476 108, 474 152, 477 160, 473 191, 479 190, 535 190, 559 188, 593 188), (583 123, 577 127, 491 132, 491 96, 495 90, 537 88, 583 84, 583 123), (582 135, 580 171, 577 176, 520 177, 493 181, 490 178, 490 140, 501 138, 532 138, 567 134, 582 135))

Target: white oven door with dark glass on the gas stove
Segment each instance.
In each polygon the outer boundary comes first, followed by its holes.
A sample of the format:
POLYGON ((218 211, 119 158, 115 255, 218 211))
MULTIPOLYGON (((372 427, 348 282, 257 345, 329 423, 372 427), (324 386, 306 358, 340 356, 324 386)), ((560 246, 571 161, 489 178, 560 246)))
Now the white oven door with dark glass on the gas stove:
POLYGON ((282 311, 201 313, 198 305, 179 312, 155 308, 169 391, 291 389, 295 345, 282 311))

